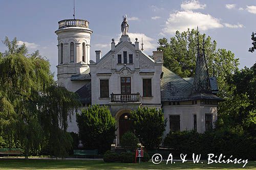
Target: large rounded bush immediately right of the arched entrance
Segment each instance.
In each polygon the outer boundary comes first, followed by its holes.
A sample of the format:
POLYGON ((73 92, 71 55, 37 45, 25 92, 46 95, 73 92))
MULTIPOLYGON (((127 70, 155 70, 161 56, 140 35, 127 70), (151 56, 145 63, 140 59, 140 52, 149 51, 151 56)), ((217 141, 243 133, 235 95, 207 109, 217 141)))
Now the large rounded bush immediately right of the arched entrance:
POLYGON ((138 108, 131 112, 131 119, 133 120, 135 135, 140 142, 147 149, 159 147, 167 121, 164 119, 162 110, 138 108))

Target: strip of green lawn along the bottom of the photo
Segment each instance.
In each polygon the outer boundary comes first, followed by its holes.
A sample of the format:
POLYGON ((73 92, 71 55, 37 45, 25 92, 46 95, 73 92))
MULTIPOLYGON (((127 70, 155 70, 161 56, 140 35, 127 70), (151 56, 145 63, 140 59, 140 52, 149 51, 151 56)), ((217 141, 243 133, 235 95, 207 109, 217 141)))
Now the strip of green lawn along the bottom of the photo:
MULTIPOLYGON (((176 162, 175 164, 144 162, 105 163, 102 160, 38 160, 38 159, 0 159, 0 169, 242 169, 242 164, 193 164, 176 162)), ((249 161, 245 168, 256 169, 256 161, 249 161)))

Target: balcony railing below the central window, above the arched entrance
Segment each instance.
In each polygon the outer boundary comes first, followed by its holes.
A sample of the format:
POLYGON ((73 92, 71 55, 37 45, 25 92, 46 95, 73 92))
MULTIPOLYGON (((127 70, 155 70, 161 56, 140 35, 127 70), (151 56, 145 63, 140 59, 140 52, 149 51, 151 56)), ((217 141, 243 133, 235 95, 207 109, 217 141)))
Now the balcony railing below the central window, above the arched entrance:
POLYGON ((136 94, 111 94, 111 102, 139 102, 140 93, 136 94))

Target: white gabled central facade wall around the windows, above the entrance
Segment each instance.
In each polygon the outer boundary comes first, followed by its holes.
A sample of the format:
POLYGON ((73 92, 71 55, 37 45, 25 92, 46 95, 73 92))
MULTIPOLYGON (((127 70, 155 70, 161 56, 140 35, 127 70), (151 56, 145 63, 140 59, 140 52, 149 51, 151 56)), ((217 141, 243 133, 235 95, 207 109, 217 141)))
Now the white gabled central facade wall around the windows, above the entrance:
POLYGON ((112 52, 96 63, 90 64, 92 83, 92 104, 108 105, 111 102, 111 93, 121 93, 121 77, 131 77, 131 93, 140 93, 140 102, 147 105, 161 105, 160 75, 162 63, 155 63, 130 42, 121 42, 112 52), (127 64, 123 64, 123 52, 127 52, 127 64), (117 56, 122 56, 122 64, 118 64, 117 56), (129 63, 129 54, 133 54, 133 63, 129 63), (136 57, 139 66, 136 68, 136 57), (112 65, 113 62, 113 65, 112 65), (144 78, 152 79, 152 96, 143 96, 144 78), (100 79, 109 80, 109 98, 100 98, 100 79))

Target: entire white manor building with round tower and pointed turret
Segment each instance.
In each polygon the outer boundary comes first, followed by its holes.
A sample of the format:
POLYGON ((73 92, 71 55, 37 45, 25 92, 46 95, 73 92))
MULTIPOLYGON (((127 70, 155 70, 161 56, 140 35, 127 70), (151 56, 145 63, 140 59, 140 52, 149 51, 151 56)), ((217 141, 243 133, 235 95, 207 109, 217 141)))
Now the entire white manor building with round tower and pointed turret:
MULTIPOLYGON (((112 39, 103 57, 95 51, 93 61, 89 22, 66 19, 58 23, 58 84, 78 93, 82 108, 108 105, 116 118, 117 143, 131 128, 129 113, 138 107, 162 108, 167 119, 164 135, 170 130, 202 133, 214 126, 222 99, 215 95, 217 80, 208 76, 204 54, 198 51, 195 78, 181 78, 163 66, 163 52, 154 51, 151 58, 140 50, 138 39, 129 38, 124 19, 119 42, 112 39)), ((75 114, 68 131, 78 133, 75 114)))

